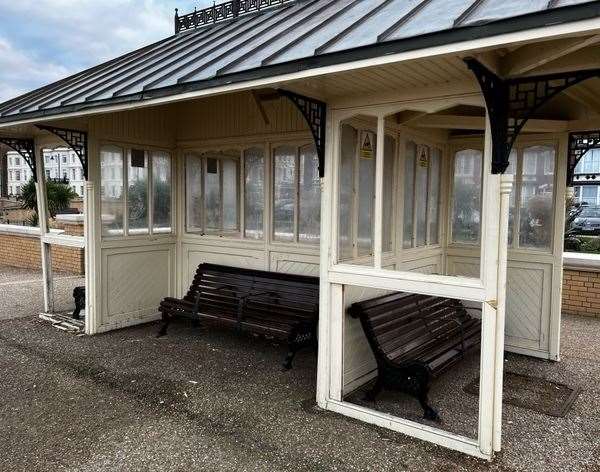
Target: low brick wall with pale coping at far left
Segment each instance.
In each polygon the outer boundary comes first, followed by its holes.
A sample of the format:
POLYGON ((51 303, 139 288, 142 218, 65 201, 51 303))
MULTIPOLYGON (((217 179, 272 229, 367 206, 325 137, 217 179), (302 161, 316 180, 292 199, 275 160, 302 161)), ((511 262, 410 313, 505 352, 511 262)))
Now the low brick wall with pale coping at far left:
MULTIPOLYGON (((41 269, 40 236, 36 229, 0 225, 0 263, 24 269, 41 269)), ((83 275, 84 250, 53 245, 52 268, 57 272, 83 275)))

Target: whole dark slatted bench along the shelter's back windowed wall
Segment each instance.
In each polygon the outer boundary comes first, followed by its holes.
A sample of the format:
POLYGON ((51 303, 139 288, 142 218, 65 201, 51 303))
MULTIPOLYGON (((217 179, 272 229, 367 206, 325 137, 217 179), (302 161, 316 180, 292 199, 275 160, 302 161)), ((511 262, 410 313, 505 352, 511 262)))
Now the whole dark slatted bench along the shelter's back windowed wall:
POLYGON ((291 369, 300 348, 316 345, 319 279, 200 264, 183 299, 166 298, 159 310, 159 336, 174 317, 265 335, 288 343, 284 368, 291 369))

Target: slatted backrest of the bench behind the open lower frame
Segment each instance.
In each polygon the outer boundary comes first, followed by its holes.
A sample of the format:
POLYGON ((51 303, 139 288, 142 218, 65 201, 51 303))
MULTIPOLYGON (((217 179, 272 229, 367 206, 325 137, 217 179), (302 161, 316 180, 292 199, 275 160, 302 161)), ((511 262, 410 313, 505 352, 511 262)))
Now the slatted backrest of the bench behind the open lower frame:
POLYGON ((402 292, 355 303, 349 313, 360 318, 377 361, 395 363, 426 360, 471 320, 459 300, 402 292))

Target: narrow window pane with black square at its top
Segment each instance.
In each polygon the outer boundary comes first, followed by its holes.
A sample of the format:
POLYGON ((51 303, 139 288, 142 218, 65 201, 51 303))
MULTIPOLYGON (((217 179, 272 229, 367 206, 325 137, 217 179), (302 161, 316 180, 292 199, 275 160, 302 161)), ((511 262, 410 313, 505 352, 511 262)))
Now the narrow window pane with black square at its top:
POLYGON ((148 233, 148 153, 129 151, 127 169, 127 224, 129 234, 148 233))

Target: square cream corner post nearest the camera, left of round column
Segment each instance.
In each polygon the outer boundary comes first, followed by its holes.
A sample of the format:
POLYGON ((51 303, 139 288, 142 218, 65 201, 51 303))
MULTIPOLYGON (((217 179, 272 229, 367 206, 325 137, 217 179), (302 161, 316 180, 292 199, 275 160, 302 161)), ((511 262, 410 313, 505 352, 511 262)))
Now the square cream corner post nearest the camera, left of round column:
POLYGON ((492 174, 492 135, 486 117, 483 152, 483 199, 481 218, 481 280, 486 293, 482 306, 479 388, 479 448, 493 454, 494 381, 496 367, 496 315, 498 296, 498 230, 500 176, 492 174))

